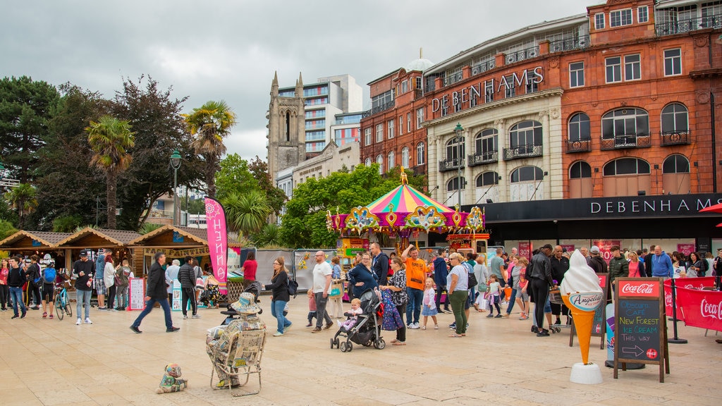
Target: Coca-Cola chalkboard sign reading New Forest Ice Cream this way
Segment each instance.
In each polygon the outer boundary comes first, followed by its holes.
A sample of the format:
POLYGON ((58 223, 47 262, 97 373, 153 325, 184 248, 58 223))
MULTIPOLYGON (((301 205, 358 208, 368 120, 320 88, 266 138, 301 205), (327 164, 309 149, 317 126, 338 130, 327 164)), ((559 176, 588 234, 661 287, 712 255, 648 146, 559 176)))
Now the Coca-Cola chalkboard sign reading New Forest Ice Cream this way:
POLYGON ((667 324, 661 278, 615 280, 614 290, 614 379, 619 363, 659 365, 659 381, 669 373, 667 324))

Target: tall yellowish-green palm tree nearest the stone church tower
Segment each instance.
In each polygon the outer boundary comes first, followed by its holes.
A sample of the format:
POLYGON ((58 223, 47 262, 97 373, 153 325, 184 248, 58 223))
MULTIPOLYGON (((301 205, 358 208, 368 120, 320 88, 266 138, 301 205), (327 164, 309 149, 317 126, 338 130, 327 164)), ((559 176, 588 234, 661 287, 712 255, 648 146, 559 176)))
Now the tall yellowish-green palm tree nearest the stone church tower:
POLYGON ((183 114, 188 130, 193 134, 193 150, 201 155, 205 162, 206 194, 216 196, 216 172, 220 170, 220 157, 225 154, 223 138, 230 134, 235 126, 236 116, 225 101, 209 101, 201 108, 193 108, 193 113, 183 114))

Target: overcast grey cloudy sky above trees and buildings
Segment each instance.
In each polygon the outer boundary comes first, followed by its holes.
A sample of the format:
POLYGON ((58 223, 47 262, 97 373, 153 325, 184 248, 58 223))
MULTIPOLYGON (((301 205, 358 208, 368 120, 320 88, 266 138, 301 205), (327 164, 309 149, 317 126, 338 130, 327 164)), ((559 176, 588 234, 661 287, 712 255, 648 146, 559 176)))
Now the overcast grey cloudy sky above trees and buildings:
MULTIPOLYGON (((71 82, 112 98, 147 74, 184 111, 225 100, 238 114, 228 152, 266 157, 274 72, 281 87, 334 74, 367 82, 419 57, 438 63, 604 0, 2 1, 0 77, 71 82)), ((364 100, 365 106, 370 100, 364 100)))

